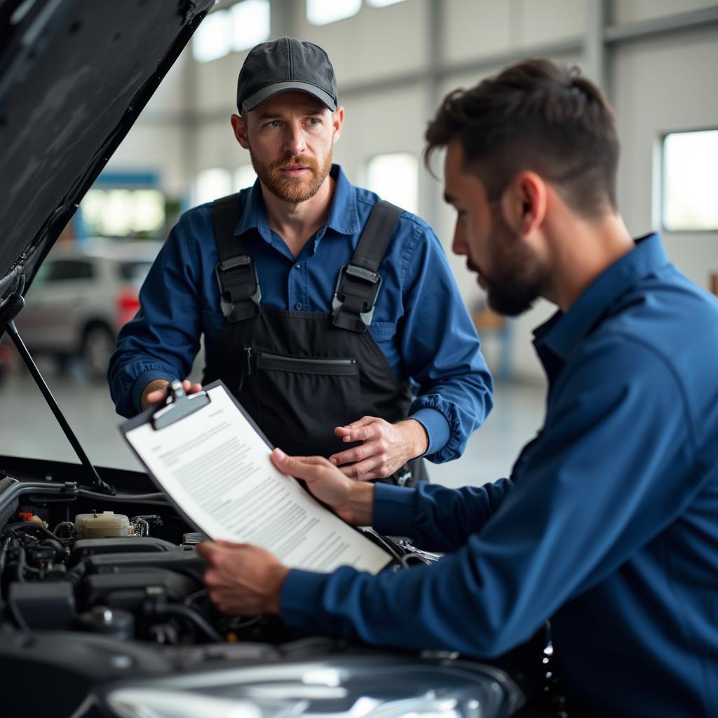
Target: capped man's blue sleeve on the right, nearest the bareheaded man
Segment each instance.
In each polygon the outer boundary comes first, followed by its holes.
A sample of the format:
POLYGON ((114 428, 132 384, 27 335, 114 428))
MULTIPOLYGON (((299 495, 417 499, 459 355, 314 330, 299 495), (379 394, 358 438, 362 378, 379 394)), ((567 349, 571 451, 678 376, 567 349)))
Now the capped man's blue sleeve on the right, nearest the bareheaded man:
POLYGON ((457 459, 493 407, 493 379, 444 249, 426 225, 403 285, 401 355, 407 376, 419 386, 409 415, 426 429, 427 459, 457 459))

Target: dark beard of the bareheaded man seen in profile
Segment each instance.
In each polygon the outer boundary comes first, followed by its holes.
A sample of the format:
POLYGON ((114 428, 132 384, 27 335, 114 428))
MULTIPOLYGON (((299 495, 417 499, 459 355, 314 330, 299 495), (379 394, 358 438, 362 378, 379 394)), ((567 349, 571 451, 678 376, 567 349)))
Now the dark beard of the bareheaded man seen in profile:
POLYGON ((523 245, 499 208, 491 208, 491 270, 481 272, 489 306, 498 314, 518 317, 533 307, 548 284, 548 271, 523 245))

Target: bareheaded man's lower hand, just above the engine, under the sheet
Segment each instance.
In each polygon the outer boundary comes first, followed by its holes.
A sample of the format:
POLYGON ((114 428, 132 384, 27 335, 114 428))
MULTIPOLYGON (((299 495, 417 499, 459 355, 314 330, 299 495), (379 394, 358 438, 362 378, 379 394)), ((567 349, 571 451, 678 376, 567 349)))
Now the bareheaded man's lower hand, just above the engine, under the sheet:
POLYGON ((208 563, 205 586, 220 611, 248 616, 279 613, 289 569, 269 551, 251 544, 203 541, 197 553, 208 563))

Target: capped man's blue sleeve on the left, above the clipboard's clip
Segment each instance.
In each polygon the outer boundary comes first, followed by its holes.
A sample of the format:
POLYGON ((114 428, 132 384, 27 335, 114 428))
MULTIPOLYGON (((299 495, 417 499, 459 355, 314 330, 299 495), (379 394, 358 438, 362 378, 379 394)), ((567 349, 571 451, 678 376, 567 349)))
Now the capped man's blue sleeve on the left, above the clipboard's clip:
POLYGON ((200 348, 202 309, 197 253, 182 218, 140 290, 141 307, 120 330, 108 368, 117 413, 134 416, 142 389, 155 379, 184 379, 200 348))

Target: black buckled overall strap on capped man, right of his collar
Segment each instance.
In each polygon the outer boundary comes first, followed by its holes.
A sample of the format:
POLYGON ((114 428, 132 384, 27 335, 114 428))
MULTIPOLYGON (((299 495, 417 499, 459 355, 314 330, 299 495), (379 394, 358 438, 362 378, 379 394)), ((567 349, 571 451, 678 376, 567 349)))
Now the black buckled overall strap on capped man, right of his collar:
POLYGON ((377 270, 396 220, 403 212, 384 200, 374 205, 350 263, 339 271, 332 300, 335 327, 362 334, 371 324, 374 304, 381 288, 381 276, 377 270))

